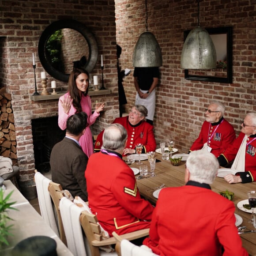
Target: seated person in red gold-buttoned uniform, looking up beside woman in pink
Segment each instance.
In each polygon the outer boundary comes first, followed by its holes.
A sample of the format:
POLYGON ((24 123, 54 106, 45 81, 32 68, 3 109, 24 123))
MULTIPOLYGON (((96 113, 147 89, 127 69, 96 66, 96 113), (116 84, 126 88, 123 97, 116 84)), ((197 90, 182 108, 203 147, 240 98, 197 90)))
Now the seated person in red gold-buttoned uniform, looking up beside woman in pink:
MULTIPOLYGON (((135 105, 129 113, 128 117, 119 117, 113 121, 113 124, 122 124, 127 131, 128 139, 124 148, 123 155, 135 154, 135 145, 137 143, 143 144, 142 153, 155 151, 156 142, 154 138, 153 125, 147 123, 147 109, 143 105, 135 105)), ((102 147, 102 136, 104 130, 98 135, 94 151, 100 151, 102 147)))

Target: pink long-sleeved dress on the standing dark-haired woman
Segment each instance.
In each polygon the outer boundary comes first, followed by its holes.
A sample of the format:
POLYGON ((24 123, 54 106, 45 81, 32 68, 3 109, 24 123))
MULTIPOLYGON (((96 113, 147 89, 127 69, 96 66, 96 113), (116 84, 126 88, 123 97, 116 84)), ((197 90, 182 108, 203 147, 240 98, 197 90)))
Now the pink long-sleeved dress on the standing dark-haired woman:
MULTIPOLYGON (((58 124, 61 130, 65 130, 67 128, 67 120, 68 117, 72 116, 73 114, 75 114, 77 112, 77 110, 74 108, 74 106, 71 106, 71 109, 69 110, 69 113, 66 114, 64 113, 64 109, 61 106, 60 100, 64 101, 64 97, 68 96, 69 92, 67 92, 66 94, 64 94, 63 96, 60 97, 59 99, 59 119, 58 119, 58 124)), ((87 122, 88 122, 88 126, 85 129, 84 134, 81 136, 81 138, 79 139, 79 144, 83 149, 83 152, 89 157, 91 154, 94 153, 94 147, 93 147, 93 141, 92 141, 92 134, 90 131, 90 125, 94 124, 97 117, 100 115, 99 113, 97 113, 96 111, 94 111, 94 113, 91 113, 91 99, 90 96, 84 96, 82 94, 82 98, 81 98, 81 107, 82 107, 82 111, 87 113, 87 122)))

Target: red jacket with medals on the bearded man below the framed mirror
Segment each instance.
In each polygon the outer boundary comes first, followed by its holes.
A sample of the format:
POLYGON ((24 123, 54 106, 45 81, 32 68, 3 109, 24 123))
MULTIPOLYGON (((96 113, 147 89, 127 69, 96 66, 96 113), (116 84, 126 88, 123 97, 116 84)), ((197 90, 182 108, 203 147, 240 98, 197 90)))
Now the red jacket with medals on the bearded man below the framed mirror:
POLYGON ((218 157, 236 139, 236 134, 233 126, 224 118, 213 124, 204 121, 200 134, 192 144, 190 151, 202 149, 203 144, 208 141, 209 137, 211 139, 207 144, 212 148, 211 153, 218 157))

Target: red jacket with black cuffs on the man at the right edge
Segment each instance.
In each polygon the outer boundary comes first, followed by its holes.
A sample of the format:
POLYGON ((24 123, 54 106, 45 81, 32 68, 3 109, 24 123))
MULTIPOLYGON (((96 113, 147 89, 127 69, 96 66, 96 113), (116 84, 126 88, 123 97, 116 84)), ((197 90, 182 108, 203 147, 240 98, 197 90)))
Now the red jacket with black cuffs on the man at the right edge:
MULTIPOLYGON (((240 132, 236 140, 226 149, 226 151, 218 157, 218 162, 220 166, 226 166, 229 162, 232 162, 240 145, 245 137, 243 132, 240 132)), ((247 138, 247 143, 245 151, 245 172, 237 172, 240 175, 242 183, 256 181, 256 135, 251 135, 247 138)))

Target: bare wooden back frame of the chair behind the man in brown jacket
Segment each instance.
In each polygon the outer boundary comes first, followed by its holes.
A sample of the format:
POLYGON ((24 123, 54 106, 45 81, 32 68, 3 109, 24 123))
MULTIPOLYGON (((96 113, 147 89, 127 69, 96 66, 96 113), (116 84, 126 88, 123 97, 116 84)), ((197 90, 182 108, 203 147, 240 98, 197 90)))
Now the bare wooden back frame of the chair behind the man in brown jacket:
POLYGON ((60 199, 64 197, 64 193, 62 192, 62 187, 60 184, 55 183, 51 181, 48 186, 48 190, 50 193, 50 196, 53 200, 55 209, 56 209, 56 214, 57 214, 57 219, 58 219, 58 226, 59 226, 59 233, 60 233, 60 240, 67 245, 67 240, 63 228, 63 223, 60 215, 60 199))

